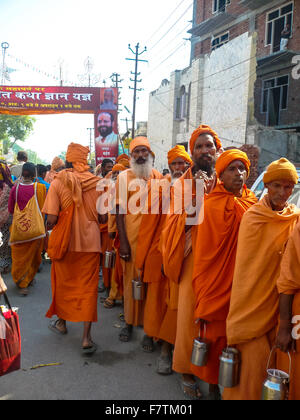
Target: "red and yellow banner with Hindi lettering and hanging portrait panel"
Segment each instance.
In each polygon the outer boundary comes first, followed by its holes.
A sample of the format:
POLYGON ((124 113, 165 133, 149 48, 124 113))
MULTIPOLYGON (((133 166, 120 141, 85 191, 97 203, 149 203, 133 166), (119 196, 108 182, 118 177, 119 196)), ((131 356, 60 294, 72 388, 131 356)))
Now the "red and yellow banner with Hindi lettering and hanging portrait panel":
POLYGON ((94 114, 96 163, 116 160, 120 148, 117 88, 0 86, 0 114, 63 113, 94 114))

